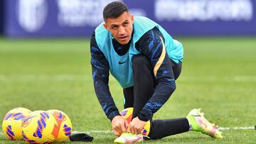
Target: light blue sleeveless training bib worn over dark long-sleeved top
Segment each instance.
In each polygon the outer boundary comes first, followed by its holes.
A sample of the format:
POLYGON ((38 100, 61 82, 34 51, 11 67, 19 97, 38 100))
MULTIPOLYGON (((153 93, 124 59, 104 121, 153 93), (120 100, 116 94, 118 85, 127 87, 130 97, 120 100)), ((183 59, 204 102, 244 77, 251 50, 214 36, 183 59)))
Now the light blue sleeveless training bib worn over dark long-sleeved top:
POLYGON ((110 72, 123 88, 132 87, 134 85, 132 77, 132 56, 140 53, 135 48, 135 43, 137 43, 139 38, 141 38, 144 33, 154 27, 159 28, 159 31, 164 36, 166 52, 168 53, 169 57, 176 63, 178 63, 178 61, 182 61, 182 44, 178 42, 178 40, 171 38, 171 35, 169 35, 164 28, 159 26, 159 24, 155 23, 154 21, 151 21, 149 18, 134 16, 134 34, 131 39, 132 42, 129 46, 127 54, 122 56, 115 52, 112 45, 112 35, 105 29, 103 23, 101 23, 100 26, 97 26, 95 29, 95 39, 97 41, 97 45, 109 63, 110 72))

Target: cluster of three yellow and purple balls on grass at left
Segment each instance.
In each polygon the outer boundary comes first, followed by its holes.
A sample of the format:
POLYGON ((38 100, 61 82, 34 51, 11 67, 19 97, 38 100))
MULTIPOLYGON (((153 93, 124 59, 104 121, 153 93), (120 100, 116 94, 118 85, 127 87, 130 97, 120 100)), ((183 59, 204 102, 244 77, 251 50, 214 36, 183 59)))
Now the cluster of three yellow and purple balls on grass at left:
POLYGON ((12 109, 2 123, 9 140, 26 140, 28 143, 61 143, 69 140, 72 123, 63 111, 33 111, 12 109))

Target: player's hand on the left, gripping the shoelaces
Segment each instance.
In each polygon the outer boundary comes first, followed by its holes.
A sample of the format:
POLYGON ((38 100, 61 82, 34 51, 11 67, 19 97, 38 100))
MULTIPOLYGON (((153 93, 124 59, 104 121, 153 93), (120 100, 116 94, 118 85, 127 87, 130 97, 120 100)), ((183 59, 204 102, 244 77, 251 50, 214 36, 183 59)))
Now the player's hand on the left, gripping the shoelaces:
POLYGON ((127 120, 124 119, 122 116, 114 116, 111 123, 114 135, 117 136, 120 136, 123 132, 126 132, 127 126, 129 125, 127 120))

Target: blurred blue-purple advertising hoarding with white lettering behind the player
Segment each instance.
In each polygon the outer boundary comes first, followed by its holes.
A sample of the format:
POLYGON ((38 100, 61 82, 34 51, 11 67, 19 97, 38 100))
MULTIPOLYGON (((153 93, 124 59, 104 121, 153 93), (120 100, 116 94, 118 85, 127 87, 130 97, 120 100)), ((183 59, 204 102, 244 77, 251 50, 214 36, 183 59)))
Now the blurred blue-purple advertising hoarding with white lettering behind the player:
MULTIPOLYGON (((5 33, 11 38, 87 36, 102 23, 112 0, 6 0, 5 33)), ((255 35, 255 0, 123 0, 171 35, 255 35)))

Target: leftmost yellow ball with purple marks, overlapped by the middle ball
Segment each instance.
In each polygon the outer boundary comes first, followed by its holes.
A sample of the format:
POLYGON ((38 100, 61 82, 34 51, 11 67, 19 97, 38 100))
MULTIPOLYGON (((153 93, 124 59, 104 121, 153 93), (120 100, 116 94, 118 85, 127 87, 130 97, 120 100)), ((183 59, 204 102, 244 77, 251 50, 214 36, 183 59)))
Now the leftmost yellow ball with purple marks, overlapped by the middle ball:
POLYGON ((22 140, 21 123, 29 113, 31 113, 29 109, 21 107, 11 109, 11 111, 6 113, 2 123, 2 128, 6 138, 9 140, 22 140))

